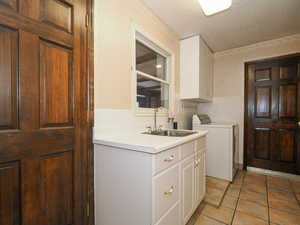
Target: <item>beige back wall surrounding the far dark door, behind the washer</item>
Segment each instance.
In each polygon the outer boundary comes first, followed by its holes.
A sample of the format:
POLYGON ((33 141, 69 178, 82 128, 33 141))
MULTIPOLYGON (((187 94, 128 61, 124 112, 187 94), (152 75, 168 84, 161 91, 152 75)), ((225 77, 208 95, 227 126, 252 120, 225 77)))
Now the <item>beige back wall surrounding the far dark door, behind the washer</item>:
POLYGON ((199 104, 200 113, 215 121, 235 121, 240 127, 240 163, 243 162, 244 63, 300 52, 300 35, 261 42, 215 54, 214 101, 199 104))

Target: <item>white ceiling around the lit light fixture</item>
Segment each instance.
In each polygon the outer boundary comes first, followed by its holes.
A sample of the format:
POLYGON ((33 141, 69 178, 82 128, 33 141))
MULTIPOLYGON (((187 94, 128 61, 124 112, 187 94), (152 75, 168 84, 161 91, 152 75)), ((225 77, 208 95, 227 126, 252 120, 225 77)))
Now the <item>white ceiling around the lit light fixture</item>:
POLYGON ((201 34, 214 51, 300 33, 300 0, 233 0, 206 17, 198 0, 143 0, 180 38, 201 34))

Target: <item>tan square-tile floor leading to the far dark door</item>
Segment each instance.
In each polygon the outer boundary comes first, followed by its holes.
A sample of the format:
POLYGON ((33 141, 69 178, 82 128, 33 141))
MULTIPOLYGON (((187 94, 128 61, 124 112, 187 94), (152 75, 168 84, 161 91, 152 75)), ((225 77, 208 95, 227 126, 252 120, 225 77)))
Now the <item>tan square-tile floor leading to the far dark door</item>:
POLYGON ((300 225, 300 181, 239 171, 220 206, 201 204, 188 223, 225 224, 300 225))

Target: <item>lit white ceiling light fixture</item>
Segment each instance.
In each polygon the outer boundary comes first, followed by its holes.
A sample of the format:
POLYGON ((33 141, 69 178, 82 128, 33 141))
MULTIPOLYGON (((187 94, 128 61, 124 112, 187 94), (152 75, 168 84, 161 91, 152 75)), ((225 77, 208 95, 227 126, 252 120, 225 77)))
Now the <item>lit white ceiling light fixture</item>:
POLYGON ((198 0, 206 16, 229 9, 232 0, 198 0))

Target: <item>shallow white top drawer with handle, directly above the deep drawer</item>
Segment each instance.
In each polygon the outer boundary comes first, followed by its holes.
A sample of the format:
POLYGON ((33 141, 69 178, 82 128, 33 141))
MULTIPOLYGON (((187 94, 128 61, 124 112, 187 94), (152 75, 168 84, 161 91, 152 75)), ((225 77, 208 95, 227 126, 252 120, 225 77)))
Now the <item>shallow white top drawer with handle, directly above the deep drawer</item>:
POLYGON ((179 161, 179 148, 173 148, 154 156, 154 171, 157 174, 164 169, 175 165, 179 161))

